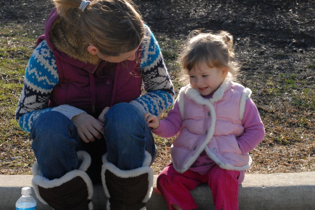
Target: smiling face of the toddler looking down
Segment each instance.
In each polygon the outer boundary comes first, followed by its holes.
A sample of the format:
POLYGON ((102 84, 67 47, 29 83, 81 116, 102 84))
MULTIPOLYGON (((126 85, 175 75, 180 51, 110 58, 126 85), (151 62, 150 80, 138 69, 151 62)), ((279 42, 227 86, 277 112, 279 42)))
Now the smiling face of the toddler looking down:
POLYGON ((228 68, 209 67, 206 62, 195 65, 188 72, 191 86, 204 96, 216 91, 227 74, 228 68))

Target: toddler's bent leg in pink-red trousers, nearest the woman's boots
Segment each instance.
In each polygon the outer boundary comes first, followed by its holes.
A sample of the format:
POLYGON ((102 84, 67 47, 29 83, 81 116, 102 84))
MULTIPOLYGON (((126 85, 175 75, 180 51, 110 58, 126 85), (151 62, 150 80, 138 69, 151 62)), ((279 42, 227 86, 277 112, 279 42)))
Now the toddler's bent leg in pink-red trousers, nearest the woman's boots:
POLYGON ((195 209, 198 208, 190 190, 195 189, 201 182, 198 174, 187 170, 177 172, 173 164, 169 164, 157 177, 156 187, 164 196, 169 209, 195 209), (177 204, 176 208, 173 204, 177 204))

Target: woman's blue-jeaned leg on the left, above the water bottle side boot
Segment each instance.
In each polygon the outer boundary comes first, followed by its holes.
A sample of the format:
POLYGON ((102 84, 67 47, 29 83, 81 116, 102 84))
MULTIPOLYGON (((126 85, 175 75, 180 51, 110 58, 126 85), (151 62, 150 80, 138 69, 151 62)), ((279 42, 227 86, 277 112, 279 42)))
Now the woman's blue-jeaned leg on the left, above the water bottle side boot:
POLYGON ((53 180, 79 168, 80 137, 73 122, 59 112, 42 113, 30 129, 32 149, 44 177, 53 180))

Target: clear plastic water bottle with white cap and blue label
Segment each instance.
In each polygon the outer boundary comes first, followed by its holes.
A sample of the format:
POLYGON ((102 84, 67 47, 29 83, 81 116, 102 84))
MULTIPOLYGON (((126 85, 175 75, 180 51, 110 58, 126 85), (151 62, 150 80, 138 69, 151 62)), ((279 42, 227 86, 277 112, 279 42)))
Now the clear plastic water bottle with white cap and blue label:
POLYGON ((36 210, 36 200, 30 195, 31 188, 23 187, 22 196, 15 203, 15 210, 36 210))

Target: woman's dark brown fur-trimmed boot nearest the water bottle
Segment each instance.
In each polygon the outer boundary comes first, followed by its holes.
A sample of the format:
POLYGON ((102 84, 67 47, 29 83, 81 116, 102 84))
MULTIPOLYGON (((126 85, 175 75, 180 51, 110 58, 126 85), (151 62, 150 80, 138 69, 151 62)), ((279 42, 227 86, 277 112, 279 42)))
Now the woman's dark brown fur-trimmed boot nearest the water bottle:
POLYGON ((92 210, 93 186, 85 172, 91 163, 87 152, 79 151, 78 158, 82 161, 79 169, 66 173, 63 177, 48 180, 42 176, 38 163, 33 165, 35 193, 40 201, 54 210, 92 210))

